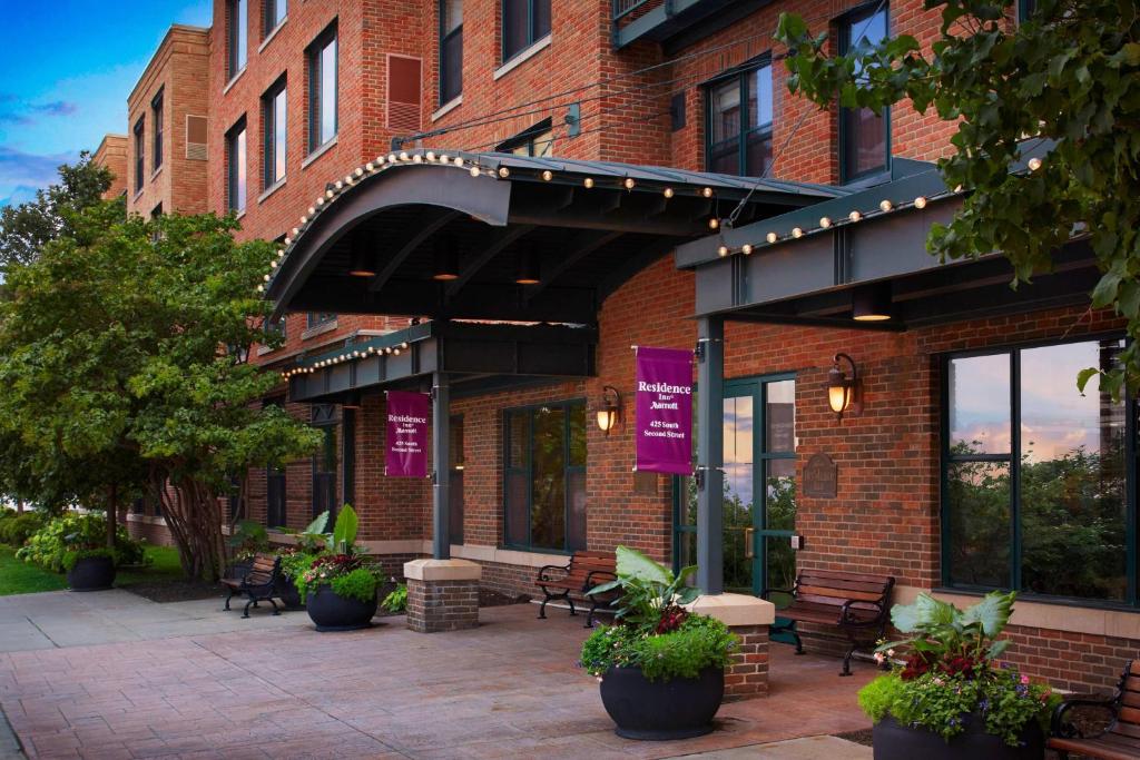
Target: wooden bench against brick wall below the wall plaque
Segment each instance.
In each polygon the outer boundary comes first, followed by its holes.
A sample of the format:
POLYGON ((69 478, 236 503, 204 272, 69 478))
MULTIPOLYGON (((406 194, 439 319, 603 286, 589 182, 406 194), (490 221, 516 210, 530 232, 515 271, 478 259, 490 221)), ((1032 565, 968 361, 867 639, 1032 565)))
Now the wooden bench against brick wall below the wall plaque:
POLYGON ((791 634, 796 639, 796 654, 804 654, 804 641, 799 638, 796 623, 838 627, 844 635, 841 640, 850 644, 839 675, 850 676, 852 655, 858 647, 857 637, 873 632, 874 639, 880 639, 886 631, 894 587, 895 579, 890 575, 805 570, 796 578, 796 588, 765 589, 763 596, 767 599, 776 593, 791 595, 791 604, 776 610, 776 616, 788 622, 772 626, 771 632, 791 634))

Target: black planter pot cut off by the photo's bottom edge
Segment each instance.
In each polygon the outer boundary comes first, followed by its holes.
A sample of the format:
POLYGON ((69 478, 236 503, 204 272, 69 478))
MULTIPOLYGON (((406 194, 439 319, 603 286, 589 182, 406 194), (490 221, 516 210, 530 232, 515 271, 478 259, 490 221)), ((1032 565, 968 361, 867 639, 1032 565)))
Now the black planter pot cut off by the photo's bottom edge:
POLYGON ((1041 725, 1031 720, 1021 732, 1021 745, 1009 746, 1000 737, 986 733, 979 713, 962 716, 966 729, 945 741, 926 728, 902 726, 890 716, 874 725, 874 760, 1041 760, 1045 753, 1045 736, 1041 725))

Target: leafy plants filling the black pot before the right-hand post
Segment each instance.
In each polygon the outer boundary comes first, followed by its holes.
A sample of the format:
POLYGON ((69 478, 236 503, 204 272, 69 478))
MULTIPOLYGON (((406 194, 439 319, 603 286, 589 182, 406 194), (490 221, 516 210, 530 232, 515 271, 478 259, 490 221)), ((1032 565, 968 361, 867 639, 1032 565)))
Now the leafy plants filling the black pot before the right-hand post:
POLYGON ((700 590, 685 586, 695 567, 677 575, 641 551, 619 546, 617 575, 592 593, 620 589, 613 626, 600 626, 581 647, 581 665, 601 680, 611 668, 640 668, 651 681, 697 678, 706 668, 724 668, 736 637, 719 620, 682 605, 700 590))

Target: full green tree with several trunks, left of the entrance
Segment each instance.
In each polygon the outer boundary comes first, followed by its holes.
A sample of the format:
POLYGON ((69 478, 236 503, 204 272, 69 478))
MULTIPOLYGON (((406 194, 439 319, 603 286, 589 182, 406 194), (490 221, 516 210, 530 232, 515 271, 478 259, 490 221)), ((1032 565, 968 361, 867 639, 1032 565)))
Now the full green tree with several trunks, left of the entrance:
POLYGON ((9 271, 0 304, 0 440, 83 504, 147 491, 190 577, 225 558, 220 498, 230 474, 312 451, 314 430, 260 399, 276 373, 227 346, 274 344, 254 292, 272 246, 237 244, 233 219, 122 219, 113 202, 9 271))

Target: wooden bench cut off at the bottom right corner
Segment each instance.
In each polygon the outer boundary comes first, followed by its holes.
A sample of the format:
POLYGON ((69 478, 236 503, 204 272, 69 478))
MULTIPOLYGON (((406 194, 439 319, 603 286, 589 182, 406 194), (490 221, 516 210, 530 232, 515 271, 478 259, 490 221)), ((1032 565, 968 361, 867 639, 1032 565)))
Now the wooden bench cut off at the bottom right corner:
POLYGON ((1140 758, 1140 661, 1129 660, 1124 665, 1116 694, 1101 700, 1066 700, 1057 705, 1049 749, 1061 760, 1067 760, 1069 752, 1104 760, 1140 758), (1074 726, 1065 722, 1066 713, 1077 706, 1106 710, 1112 714, 1112 722, 1096 736, 1081 736, 1074 726))

